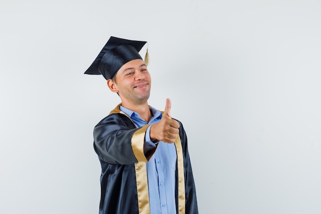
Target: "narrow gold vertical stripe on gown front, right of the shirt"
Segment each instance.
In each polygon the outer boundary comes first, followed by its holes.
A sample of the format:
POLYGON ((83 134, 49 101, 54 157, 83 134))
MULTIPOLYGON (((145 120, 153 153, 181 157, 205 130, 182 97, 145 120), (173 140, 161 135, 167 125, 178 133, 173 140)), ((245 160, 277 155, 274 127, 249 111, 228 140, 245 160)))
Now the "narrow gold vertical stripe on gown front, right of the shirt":
POLYGON ((177 174, 178 174, 178 213, 185 214, 185 178, 184 178, 184 162, 183 148, 179 135, 174 141, 177 152, 177 174))

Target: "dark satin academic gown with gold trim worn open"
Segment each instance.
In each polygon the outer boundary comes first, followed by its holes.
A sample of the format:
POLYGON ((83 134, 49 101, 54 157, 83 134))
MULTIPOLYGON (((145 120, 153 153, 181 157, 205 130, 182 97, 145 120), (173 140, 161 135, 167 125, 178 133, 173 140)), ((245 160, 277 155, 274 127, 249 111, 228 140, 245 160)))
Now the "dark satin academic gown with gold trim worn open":
MULTIPOLYGON (((146 162, 157 147, 144 154, 144 141, 151 124, 136 128, 120 105, 94 127, 94 149, 102 166, 99 214, 149 214, 146 162)), ((176 213, 197 214, 187 137, 177 122, 176 213)))

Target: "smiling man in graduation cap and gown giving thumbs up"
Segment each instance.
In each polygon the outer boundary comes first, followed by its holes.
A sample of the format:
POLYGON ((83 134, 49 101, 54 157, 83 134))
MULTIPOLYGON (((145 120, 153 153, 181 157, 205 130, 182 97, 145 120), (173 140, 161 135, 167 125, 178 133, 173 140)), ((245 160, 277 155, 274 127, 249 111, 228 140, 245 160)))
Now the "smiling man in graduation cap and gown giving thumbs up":
POLYGON ((86 74, 102 74, 122 103, 94 128, 102 166, 99 214, 196 214, 194 179, 183 125, 148 105, 146 44, 110 37, 86 74), (145 60, 146 61, 146 60, 145 60))

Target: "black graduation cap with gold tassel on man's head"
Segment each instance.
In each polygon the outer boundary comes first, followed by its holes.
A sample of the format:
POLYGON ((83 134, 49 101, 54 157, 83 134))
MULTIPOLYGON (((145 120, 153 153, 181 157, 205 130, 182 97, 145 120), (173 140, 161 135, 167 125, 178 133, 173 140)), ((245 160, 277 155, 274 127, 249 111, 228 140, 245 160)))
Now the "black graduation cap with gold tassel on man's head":
MULTIPOLYGON (((137 59, 142 60, 138 52, 146 43, 111 36, 85 74, 102 74, 106 80, 112 79, 125 63, 137 59)), ((148 64, 148 48, 145 64, 148 64)))

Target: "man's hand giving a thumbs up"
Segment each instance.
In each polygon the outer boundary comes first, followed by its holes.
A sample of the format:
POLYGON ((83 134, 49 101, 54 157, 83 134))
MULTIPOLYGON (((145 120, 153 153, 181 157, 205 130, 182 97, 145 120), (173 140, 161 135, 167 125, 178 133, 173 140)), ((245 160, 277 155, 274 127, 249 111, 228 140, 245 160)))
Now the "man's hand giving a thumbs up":
POLYGON ((165 111, 162 119, 153 124, 150 128, 150 138, 152 141, 158 140, 164 143, 173 143, 178 134, 179 124, 171 118, 172 103, 166 99, 165 111))

